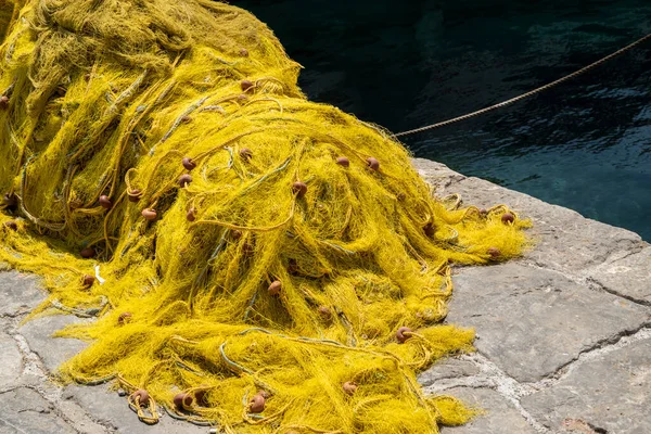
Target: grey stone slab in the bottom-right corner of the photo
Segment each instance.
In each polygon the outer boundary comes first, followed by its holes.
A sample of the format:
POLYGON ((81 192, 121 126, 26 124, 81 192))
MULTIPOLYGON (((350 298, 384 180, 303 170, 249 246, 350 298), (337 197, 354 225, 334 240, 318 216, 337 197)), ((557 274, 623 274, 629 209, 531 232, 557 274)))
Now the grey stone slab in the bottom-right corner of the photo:
POLYGON ((595 432, 651 433, 651 339, 577 366, 522 406, 554 432, 584 421, 595 432))

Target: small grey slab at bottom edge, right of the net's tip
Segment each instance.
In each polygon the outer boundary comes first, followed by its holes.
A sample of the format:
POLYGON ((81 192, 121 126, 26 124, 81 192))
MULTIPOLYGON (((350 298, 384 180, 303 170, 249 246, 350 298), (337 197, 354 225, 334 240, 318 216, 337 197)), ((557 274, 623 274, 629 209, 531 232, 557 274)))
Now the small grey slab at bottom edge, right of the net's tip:
POLYGON ((442 434, 536 434, 536 430, 500 394, 489 388, 457 387, 446 395, 461 399, 465 405, 484 410, 473 421, 462 426, 444 426, 442 434))

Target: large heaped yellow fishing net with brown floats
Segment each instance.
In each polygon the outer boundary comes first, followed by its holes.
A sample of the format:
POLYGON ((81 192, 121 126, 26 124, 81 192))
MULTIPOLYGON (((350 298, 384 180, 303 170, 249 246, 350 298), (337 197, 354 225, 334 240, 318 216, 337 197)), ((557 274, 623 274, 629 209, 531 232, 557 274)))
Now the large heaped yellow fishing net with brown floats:
POLYGON ((296 86, 207 0, 0 0, 0 259, 97 317, 64 381, 227 433, 436 433, 416 374, 471 349, 448 264, 519 255, 505 206, 432 199, 381 128, 296 86), (20 11, 20 13, 18 13, 20 11), (11 23, 11 24, 10 24, 11 23), (7 31, 5 31, 7 30, 7 31), (97 268, 95 268, 97 266, 97 268))

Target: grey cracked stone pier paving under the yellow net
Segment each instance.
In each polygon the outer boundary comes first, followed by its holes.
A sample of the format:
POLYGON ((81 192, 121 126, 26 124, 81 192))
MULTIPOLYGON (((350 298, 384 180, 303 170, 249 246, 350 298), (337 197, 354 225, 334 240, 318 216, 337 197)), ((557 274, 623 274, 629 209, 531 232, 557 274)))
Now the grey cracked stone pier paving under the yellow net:
MULTIPOLYGON (((443 360, 419 380, 432 394, 484 409, 444 434, 651 433, 651 245, 446 166, 414 159, 438 196, 508 204, 531 217, 523 258, 455 269, 448 323, 476 329, 476 353, 443 360)), ((44 294, 38 279, 0 272, 0 433, 207 434, 163 414, 140 423, 106 386, 62 387, 49 374, 85 343, 52 339, 71 316, 22 320, 44 294)))

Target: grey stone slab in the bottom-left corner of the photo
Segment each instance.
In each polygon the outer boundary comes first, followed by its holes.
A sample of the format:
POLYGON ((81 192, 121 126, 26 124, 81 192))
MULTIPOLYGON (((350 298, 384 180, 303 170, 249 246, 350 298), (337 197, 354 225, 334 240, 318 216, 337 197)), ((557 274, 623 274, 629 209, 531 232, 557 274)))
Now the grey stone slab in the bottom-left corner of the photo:
POLYGON ((1 434, 76 434, 50 403, 33 390, 20 387, 0 394, 1 434))

